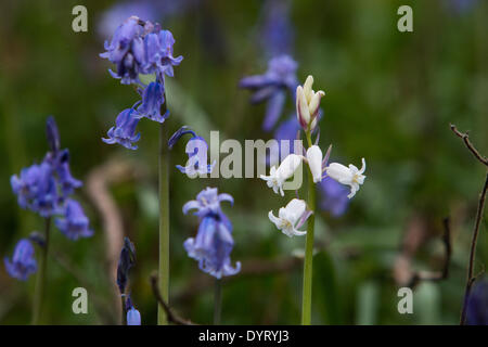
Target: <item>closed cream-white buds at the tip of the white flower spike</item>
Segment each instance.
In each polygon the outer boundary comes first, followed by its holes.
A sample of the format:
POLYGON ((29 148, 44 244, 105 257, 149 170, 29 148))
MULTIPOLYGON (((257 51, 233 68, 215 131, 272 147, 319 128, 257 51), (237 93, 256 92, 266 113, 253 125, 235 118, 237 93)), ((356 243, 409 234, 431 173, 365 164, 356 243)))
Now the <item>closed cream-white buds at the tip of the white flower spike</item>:
POLYGON ((325 92, 312 90, 313 77, 308 76, 304 87, 296 88, 296 116, 304 130, 313 130, 317 126, 320 101, 325 92))

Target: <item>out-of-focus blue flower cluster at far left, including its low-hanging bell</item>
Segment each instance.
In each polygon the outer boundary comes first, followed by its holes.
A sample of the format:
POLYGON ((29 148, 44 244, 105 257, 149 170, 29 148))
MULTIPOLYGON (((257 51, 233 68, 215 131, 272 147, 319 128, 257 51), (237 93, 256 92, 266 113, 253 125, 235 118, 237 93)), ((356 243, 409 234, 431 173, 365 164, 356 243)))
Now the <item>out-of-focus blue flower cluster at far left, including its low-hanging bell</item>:
MULTIPOLYGON (((70 174, 69 152, 60 147, 53 117, 48 118, 47 136, 50 151, 40 164, 34 164, 22 169, 18 176, 11 177, 12 190, 22 208, 43 218, 56 217, 55 224, 67 239, 89 237, 93 234, 89 220, 81 205, 70 197, 82 183, 70 174)), ((9 274, 18 280, 26 280, 36 271, 34 247, 28 240, 18 242, 12 260, 5 258, 5 267, 9 274)))

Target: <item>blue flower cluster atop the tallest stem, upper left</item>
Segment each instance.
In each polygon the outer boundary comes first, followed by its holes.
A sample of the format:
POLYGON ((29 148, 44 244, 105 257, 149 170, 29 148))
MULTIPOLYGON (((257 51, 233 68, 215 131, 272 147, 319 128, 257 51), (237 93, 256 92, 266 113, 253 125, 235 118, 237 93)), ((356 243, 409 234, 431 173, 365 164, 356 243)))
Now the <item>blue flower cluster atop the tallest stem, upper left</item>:
POLYGON ((165 102, 165 76, 174 76, 174 66, 183 57, 172 55, 175 39, 169 30, 159 24, 143 22, 137 16, 127 18, 116 30, 111 42, 105 41, 105 52, 100 56, 116 65, 108 69, 123 85, 136 85, 142 100, 119 113, 115 127, 107 132, 105 143, 118 143, 129 150, 137 150, 140 133, 136 128, 141 118, 164 123, 168 112, 160 114, 165 102), (153 75, 155 80, 144 85, 139 75, 153 75))

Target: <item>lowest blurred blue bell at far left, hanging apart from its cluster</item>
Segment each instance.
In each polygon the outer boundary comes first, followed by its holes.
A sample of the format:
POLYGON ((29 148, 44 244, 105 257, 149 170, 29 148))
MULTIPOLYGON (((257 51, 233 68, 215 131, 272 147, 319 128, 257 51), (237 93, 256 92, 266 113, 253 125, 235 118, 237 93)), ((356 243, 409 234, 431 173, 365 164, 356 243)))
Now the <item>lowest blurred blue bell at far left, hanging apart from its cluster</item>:
POLYGON ((12 261, 4 258, 5 269, 9 274, 17 280, 26 281, 37 271, 37 262, 34 258, 34 246, 27 239, 22 239, 15 246, 12 261))

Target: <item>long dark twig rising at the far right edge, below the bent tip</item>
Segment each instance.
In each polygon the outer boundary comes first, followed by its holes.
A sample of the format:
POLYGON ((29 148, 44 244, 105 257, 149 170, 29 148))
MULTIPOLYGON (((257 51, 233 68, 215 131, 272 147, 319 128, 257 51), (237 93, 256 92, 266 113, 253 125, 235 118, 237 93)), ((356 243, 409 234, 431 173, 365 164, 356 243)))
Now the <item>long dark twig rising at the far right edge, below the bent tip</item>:
POLYGON ((483 213, 485 210, 485 201, 486 201, 487 191, 488 191, 488 171, 486 174, 485 185, 483 187, 483 191, 479 196, 478 209, 476 210, 476 221, 475 221, 474 230, 473 230, 473 240, 471 242, 470 262, 467 265, 466 288, 464 291, 463 309, 461 311, 461 321, 460 321, 461 325, 464 325, 466 322, 467 300, 470 298, 471 287, 473 286, 473 283, 476 281, 476 275, 474 275, 474 265, 475 265, 475 258, 476 258, 476 242, 478 240, 479 226, 481 224, 483 213))

